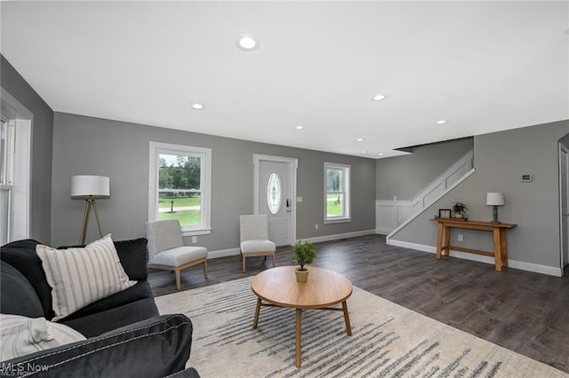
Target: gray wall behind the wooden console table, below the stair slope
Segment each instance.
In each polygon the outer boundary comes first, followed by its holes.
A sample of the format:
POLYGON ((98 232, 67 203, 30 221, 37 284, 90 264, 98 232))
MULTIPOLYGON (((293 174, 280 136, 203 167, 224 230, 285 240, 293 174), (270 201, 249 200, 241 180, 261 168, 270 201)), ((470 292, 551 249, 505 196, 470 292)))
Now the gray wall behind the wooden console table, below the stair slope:
MULTIPOLYGON (((454 201, 469 206, 470 219, 492 220, 485 193, 502 192, 502 222, 517 227, 507 233, 509 259, 550 267, 560 265, 558 141, 569 133, 569 121, 480 135, 474 138, 476 172, 413 219, 392 240, 437 245, 437 227, 429 222, 437 209, 449 209, 454 201), (521 183, 522 174, 533 182, 521 183)), ((461 230, 464 241, 453 245, 493 249, 491 232, 461 230)))

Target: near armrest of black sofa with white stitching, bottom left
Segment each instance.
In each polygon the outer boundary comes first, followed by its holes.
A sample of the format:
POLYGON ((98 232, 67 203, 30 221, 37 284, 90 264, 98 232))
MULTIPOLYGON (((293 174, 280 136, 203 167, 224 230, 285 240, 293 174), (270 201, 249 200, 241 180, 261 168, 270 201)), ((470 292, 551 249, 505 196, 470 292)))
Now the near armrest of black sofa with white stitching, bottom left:
POLYGON ((20 375, 42 366, 41 376, 52 377, 164 377, 184 369, 191 341, 192 324, 186 316, 164 315, 49 353, 13 358, 4 366, 23 366, 20 375))

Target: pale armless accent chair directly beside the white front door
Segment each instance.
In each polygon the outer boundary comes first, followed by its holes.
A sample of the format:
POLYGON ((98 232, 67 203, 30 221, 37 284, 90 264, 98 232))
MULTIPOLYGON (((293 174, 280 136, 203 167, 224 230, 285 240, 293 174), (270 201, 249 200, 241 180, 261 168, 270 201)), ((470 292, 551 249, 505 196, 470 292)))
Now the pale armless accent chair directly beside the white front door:
POLYGON ((243 259, 243 272, 245 272, 245 259, 254 256, 273 256, 275 267, 276 244, 268 240, 267 216, 240 216, 239 230, 241 233, 241 256, 243 259))

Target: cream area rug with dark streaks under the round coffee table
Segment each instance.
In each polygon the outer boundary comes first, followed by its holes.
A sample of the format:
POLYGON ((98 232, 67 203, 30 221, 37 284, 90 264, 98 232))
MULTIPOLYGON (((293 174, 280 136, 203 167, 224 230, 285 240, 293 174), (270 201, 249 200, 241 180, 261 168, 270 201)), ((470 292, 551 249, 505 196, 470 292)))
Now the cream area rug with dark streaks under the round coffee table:
POLYGON ((567 377, 354 287, 348 308, 302 312, 302 365, 294 366, 294 309, 263 307, 252 329, 251 278, 156 298, 160 313, 184 313, 194 335, 188 366, 216 377, 567 377))

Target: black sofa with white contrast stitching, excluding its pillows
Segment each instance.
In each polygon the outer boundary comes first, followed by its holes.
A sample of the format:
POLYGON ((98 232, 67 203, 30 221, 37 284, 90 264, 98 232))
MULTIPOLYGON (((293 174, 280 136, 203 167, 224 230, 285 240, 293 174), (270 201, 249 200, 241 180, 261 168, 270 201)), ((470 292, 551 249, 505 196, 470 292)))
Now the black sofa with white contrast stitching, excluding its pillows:
MULTIPOLYGON (((1 248, 0 312, 53 318, 52 288, 37 244, 18 240, 1 248)), ((147 280, 147 240, 115 241, 115 247, 124 272, 138 283, 60 319, 87 340, 2 361, 0 374, 24 376, 36 369, 34 376, 199 377, 193 368, 184 370, 191 321, 182 314, 158 314, 147 280)))

